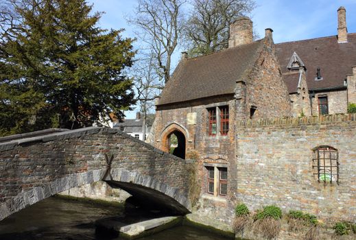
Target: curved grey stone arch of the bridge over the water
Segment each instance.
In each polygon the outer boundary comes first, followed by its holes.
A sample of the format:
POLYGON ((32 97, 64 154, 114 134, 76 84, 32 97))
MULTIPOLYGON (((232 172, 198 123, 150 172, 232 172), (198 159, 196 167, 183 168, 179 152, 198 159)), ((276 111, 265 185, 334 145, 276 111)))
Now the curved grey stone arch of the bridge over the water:
POLYGON ((156 180, 151 176, 143 176, 136 171, 111 169, 109 176, 112 177, 102 179, 105 172, 106 170, 102 169, 72 173, 42 186, 21 191, 21 193, 0 205, 0 221, 27 206, 45 200, 47 197, 73 187, 80 187, 84 184, 91 184, 100 180, 104 180, 111 187, 123 189, 131 195, 146 197, 147 200, 162 204, 176 214, 185 215, 191 210, 191 204, 185 193, 174 187, 169 187, 164 182, 156 180))

